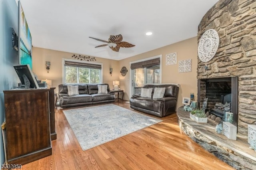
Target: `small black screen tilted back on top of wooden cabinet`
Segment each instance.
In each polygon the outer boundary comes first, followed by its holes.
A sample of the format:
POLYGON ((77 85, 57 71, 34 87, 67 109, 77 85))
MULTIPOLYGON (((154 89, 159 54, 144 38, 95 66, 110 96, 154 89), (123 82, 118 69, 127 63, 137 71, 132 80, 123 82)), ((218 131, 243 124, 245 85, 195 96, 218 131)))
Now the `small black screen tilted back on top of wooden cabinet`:
MULTIPOLYGON (((38 83, 36 81, 36 77, 34 76, 34 73, 32 72, 32 70, 30 69, 30 65, 28 65, 28 64, 14 65, 13 67, 14 67, 22 85, 26 84, 26 78, 27 78, 30 83, 29 88, 31 88, 31 89, 39 88, 38 83), (24 77, 24 75, 26 77, 24 77)), ((25 88, 25 89, 27 89, 27 88, 25 88)))

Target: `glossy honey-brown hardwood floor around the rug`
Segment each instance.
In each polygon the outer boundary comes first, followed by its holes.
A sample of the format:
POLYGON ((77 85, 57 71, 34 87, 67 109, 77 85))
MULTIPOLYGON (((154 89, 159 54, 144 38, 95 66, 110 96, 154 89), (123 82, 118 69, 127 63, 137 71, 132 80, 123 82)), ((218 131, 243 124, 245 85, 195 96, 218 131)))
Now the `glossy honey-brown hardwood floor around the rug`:
MULTIPOLYGON (((130 109, 130 105, 122 100, 116 100, 114 104, 130 109)), ((25 164, 22 170, 233 169, 186 136, 178 126, 176 114, 162 120, 83 151, 62 109, 58 109, 55 113, 57 140, 52 141, 52 155, 25 164)))

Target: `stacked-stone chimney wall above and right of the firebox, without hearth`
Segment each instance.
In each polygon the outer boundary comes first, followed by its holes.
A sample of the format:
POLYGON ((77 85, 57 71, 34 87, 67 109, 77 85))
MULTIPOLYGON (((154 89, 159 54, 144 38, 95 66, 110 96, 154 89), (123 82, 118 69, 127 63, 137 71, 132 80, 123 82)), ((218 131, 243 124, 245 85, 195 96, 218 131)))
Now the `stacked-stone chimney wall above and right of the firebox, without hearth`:
POLYGON ((256 124, 256 0, 219 0, 201 20, 198 42, 208 29, 220 44, 212 60, 198 58, 197 78, 238 76, 238 133, 247 136, 256 124))

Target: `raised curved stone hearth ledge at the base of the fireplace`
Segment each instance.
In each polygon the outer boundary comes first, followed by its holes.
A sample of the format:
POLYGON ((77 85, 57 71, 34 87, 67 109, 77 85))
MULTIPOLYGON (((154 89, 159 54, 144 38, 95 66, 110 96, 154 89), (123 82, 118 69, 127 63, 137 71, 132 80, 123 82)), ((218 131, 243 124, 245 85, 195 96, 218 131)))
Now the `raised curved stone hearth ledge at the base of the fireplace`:
POLYGON ((256 152, 249 148, 247 138, 237 136, 237 140, 230 140, 215 132, 216 124, 192 121, 183 107, 177 109, 177 115, 180 128, 205 150, 238 170, 256 169, 256 152))

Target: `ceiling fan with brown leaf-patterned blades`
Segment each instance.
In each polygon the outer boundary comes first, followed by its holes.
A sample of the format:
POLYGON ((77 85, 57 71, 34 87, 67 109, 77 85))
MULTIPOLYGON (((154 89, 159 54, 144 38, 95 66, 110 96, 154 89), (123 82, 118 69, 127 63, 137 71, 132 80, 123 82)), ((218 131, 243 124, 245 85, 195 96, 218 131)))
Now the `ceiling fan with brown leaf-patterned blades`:
MULTIPOLYGON (((92 38, 92 37, 89 37, 89 38, 92 38)), ((92 39, 107 43, 107 44, 98 45, 95 48, 109 46, 113 51, 116 51, 116 52, 119 51, 120 47, 134 47, 135 46, 128 42, 122 42, 123 37, 121 34, 116 35, 116 36, 109 36, 108 41, 100 40, 98 38, 92 38, 92 39)))

